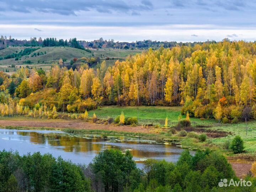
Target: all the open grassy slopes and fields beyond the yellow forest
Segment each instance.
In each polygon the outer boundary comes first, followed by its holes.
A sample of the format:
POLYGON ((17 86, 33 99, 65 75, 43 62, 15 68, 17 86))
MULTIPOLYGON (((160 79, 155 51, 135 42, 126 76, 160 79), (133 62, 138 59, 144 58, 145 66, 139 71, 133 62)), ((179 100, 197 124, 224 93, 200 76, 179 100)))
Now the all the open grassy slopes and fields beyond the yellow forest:
MULTIPOLYGON (((7 47, 5 49, 0 50, 0 57, 4 57, 8 54, 18 53, 26 47, 7 47)), ((28 56, 23 56, 21 60, 15 61, 14 58, 0 60, 0 70, 6 71, 9 70, 10 73, 14 73, 15 69, 7 68, 7 66, 11 64, 26 66, 31 64, 23 64, 24 61, 30 60, 32 65, 34 64, 42 64, 42 68, 44 68, 44 64, 53 64, 56 63, 60 58, 66 59, 69 62, 74 58, 81 57, 100 57, 101 62, 103 60, 106 61, 107 66, 112 66, 117 60, 123 61, 129 55, 135 55, 137 53, 141 53, 142 50, 130 50, 130 49, 92 49, 92 53, 86 52, 85 50, 71 48, 71 47, 43 47, 34 52, 32 52, 28 56), (31 57, 34 53, 45 53, 44 55, 36 55, 31 57)), ((48 69, 48 68, 46 68, 48 69)))

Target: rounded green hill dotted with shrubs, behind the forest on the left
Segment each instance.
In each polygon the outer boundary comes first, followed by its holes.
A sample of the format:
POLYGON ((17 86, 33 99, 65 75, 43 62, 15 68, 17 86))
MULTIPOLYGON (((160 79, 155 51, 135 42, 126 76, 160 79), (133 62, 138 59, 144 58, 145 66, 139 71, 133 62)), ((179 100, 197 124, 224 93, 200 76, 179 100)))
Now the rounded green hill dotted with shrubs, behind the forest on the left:
MULTIPOLYGON (((18 47, 18 48, 21 48, 21 47, 18 47)), ((1 51, 3 52, 4 50, 1 50, 1 51)), ((85 50, 71 48, 71 47, 43 47, 32 52, 30 55, 23 56, 18 61, 15 61, 14 58, 4 59, 4 60, 0 60, 0 64, 6 64, 6 65, 22 64, 23 62, 26 62, 28 60, 30 60, 32 63, 51 63, 52 61, 57 61, 60 58, 70 61, 71 59, 81 58, 81 57, 92 57, 92 53, 86 52, 85 50), (34 53, 36 55, 34 55, 34 53), (39 53, 40 55, 37 55, 37 53, 39 53)))

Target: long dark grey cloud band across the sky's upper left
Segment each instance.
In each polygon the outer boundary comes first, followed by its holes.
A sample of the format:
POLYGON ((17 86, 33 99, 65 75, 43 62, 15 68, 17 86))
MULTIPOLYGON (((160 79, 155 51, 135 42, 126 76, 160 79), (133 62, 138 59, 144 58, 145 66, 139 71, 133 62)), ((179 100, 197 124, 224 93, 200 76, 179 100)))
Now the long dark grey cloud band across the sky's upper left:
POLYGON ((111 13, 113 11, 126 12, 133 10, 150 10, 152 3, 149 0, 143 0, 141 3, 138 2, 132 4, 128 1, 114 1, 114 0, 66 0, 60 3, 59 0, 4 0, 5 6, 1 11, 16 11, 29 13, 33 10, 39 12, 56 13, 59 15, 76 15, 76 11, 90 11, 96 10, 103 13, 111 13))

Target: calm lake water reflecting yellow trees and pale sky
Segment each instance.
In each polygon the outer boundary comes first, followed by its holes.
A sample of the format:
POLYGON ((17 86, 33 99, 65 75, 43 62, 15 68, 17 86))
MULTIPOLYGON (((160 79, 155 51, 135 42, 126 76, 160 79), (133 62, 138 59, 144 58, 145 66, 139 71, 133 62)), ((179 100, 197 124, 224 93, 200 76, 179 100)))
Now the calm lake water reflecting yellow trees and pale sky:
POLYGON ((158 144, 140 138, 102 137, 90 134, 68 134, 52 130, 0 129, 0 150, 27 153, 50 153, 75 163, 89 164, 104 149, 130 150, 138 167, 145 159, 176 162, 182 149, 173 144, 158 144))

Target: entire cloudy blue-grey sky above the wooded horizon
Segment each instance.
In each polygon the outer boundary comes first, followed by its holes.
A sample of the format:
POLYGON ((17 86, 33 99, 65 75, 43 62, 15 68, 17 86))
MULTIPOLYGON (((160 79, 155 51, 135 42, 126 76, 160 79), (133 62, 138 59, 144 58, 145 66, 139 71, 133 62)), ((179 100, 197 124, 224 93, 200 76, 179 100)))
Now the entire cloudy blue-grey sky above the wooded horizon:
POLYGON ((0 0, 0 35, 91 41, 256 40, 256 1, 0 0))

